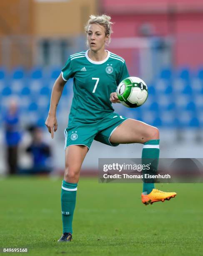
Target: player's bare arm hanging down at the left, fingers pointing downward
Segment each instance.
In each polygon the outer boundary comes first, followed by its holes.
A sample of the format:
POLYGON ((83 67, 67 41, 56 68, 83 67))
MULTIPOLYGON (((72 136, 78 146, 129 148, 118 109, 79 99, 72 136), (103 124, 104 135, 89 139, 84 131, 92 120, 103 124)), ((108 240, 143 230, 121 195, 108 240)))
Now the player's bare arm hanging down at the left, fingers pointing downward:
POLYGON ((48 113, 47 120, 45 122, 45 125, 48 128, 48 131, 51 133, 51 138, 54 137, 54 131, 56 131, 58 128, 57 119, 56 119, 56 108, 58 106, 58 102, 62 95, 63 87, 65 83, 66 81, 63 80, 62 75, 60 74, 60 76, 56 79, 52 88, 49 113, 48 113))

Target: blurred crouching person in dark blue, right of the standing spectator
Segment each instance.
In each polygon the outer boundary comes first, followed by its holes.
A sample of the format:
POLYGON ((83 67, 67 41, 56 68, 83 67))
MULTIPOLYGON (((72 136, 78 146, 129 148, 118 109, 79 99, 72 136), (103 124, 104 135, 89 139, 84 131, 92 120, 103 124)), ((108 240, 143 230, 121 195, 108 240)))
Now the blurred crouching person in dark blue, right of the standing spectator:
POLYGON ((43 131, 39 127, 29 128, 32 142, 26 152, 32 156, 33 166, 20 170, 20 174, 48 174, 52 171, 52 157, 50 146, 43 141, 43 131))

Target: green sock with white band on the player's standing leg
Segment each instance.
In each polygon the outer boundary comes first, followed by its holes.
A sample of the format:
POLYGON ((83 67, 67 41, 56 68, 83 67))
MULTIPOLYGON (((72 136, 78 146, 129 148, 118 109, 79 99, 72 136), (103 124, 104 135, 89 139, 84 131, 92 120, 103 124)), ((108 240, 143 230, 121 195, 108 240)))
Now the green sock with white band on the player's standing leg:
POLYGON ((77 183, 69 183, 63 180, 61 189, 61 212, 63 222, 63 233, 73 234, 72 222, 75 209, 77 183))

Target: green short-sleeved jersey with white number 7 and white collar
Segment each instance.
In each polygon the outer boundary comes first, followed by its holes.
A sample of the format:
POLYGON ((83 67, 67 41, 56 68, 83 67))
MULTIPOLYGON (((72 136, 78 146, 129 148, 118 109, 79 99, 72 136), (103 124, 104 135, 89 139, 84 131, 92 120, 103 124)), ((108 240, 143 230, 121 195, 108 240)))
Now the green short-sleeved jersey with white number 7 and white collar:
POLYGON ((62 69, 65 81, 73 77, 73 102, 68 126, 95 123, 113 113, 110 93, 129 77, 125 60, 108 51, 103 61, 93 61, 88 51, 70 55, 62 69))

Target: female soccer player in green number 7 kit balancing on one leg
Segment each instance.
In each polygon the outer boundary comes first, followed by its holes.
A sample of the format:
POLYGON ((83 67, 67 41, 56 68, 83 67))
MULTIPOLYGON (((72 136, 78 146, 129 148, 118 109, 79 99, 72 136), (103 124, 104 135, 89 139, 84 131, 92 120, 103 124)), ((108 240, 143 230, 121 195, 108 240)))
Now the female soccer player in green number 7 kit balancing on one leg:
MULTIPOLYGON (((58 241, 67 242, 72 239, 80 167, 93 140, 110 146, 142 143, 142 159, 156 159, 158 164, 158 129, 114 113, 112 103, 119 102, 116 88, 129 74, 125 60, 105 50, 105 45, 110 42, 111 25, 107 15, 90 16, 85 26, 89 49, 70 55, 52 90, 50 110, 45 122, 51 138, 58 127, 56 108, 63 87, 70 77, 74 78, 74 97, 68 127, 64 132, 65 174, 61 190, 63 235, 58 241)), ((175 195, 154 189, 153 183, 144 183, 141 199, 148 205, 175 195)))

